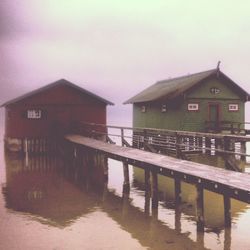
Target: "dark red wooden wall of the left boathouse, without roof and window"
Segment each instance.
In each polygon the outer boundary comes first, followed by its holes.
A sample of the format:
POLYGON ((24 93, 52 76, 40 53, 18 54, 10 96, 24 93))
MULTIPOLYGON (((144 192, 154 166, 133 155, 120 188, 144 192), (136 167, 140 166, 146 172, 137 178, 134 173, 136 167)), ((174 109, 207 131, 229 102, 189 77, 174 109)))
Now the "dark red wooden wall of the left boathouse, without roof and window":
POLYGON ((56 86, 6 107, 5 137, 46 137, 70 130, 77 121, 106 124, 106 104, 68 86, 56 86), (27 110, 42 110, 27 119, 27 110))

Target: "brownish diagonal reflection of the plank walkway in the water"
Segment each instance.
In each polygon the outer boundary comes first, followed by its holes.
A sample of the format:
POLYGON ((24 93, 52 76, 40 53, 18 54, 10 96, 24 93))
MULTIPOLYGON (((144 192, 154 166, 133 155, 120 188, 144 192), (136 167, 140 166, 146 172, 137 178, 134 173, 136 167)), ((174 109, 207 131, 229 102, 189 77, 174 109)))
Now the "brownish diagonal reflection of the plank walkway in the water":
MULTIPOLYGON (((145 203, 148 203, 146 196, 145 203)), ((148 206, 145 205, 145 207, 148 206)), ((185 247, 207 249, 204 244, 198 245, 187 234, 172 229, 167 223, 159 220, 158 209, 152 209, 152 213, 147 214, 133 206, 132 200, 124 192, 122 197, 108 192, 102 208, 146 248, 149 247, 152 250, 185 249, 185 247)), ((180 223, 180 220, 177 223, 180 223)))

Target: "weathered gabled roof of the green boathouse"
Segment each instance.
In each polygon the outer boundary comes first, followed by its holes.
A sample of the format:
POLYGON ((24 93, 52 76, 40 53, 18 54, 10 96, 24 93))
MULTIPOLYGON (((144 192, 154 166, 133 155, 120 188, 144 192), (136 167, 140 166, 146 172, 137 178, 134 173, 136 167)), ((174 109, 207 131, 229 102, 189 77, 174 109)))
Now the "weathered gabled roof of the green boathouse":
POLYGON ((208 77, 217 75, 222 76, 224 79, 226 79, 231 86, 239 91, 240 95, 242 95, 246 101, 250 100, 250 95, 245 90, 243 90, 229 77, 227 77, 225 74, 219 71, 219 69, 216 68, 196 74, 156 82, 139 94, 128 99, 126 102, 124 102, 124 104, 150 102, 161 98, 164 98, 165 100, 172 99, 185 93, 187 90, 200 83, 201 81, 207 79, 208 77))

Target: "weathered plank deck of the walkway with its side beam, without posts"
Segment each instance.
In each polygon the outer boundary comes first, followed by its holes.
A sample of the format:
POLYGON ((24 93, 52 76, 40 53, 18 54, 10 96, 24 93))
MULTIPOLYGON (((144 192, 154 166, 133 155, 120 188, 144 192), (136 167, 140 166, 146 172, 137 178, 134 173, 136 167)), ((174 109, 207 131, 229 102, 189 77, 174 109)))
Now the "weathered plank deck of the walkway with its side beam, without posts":
POLYGON ((166 155, 151 153, 136 148, 122 147, 81 135, 66 135, 65 139, 84 147, 107 154, 108 157, 126 161, 139 167, 155 168, 158 174, 178 176, 194 184, 203 184, 208 190, 223 193, 250 203, 250 175, 229 171, 205 164, 180 160, 166 155), (192 180, 190 180, 192 179, 192 180))

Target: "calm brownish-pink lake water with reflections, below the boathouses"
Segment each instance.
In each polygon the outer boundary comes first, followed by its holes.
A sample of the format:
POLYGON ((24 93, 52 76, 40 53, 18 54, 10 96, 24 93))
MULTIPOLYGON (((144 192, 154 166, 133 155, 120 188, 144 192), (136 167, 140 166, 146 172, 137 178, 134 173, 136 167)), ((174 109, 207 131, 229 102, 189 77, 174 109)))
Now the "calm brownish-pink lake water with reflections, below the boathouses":
POLYGON ((225 230, 222 197, 205 192, 206 230, 197 233, 192 185, 182 183, 176 210, 173 181, 160 177, 159 207, 152 210, 138 168, 130 166, 128 194, 120 162, 108 161, 108 182, 97 187, 58 157, 27 162, 4 154, 2 139, 0 150, 0 249, 250 250, 245 203, 233 200, 233 225, 225 230))

